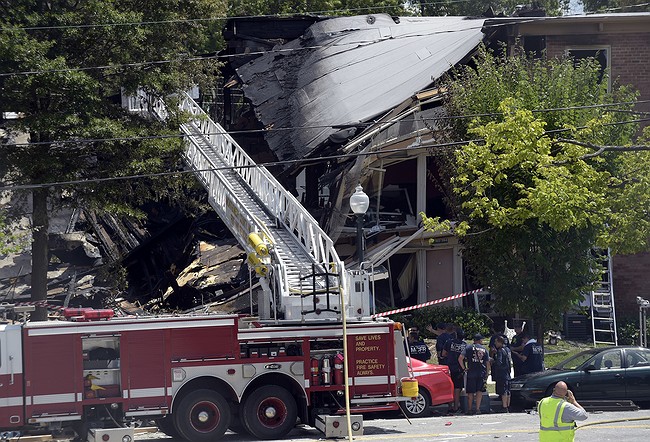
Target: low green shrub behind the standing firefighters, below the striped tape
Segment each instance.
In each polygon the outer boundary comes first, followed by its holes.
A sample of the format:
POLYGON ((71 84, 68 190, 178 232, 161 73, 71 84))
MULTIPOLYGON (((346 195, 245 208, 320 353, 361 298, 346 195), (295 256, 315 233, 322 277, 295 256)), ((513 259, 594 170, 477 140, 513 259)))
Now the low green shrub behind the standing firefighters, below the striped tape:
POLYGON ((476 333, 488 336, 492 320, 472 309, 462 307, 425 307, 406 313, 390 316, 391 319, 403 322, 407 327, 417 326, 420 329, 420 336, 423 338, 435 338, 435 335, 427 330, 428 325, 434 328, 440 322, 451 322, 462 328, 465 336, 471 338, 476 333))

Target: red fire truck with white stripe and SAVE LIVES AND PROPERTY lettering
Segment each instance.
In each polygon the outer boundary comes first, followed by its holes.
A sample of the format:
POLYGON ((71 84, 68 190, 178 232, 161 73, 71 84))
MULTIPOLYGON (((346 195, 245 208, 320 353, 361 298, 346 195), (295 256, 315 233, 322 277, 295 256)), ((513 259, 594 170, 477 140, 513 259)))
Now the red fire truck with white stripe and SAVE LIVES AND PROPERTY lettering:
MULTIPOLYGON (((228 428, 280 439, 297 419, 344 412, 340 323, 64 313, 76 320, 0 325, 2 431, 74 430, 84 440, 94 428, 151 419, 190 441, 228 428)), ((352 411, 396 409, 409 375, 400 325, 347 330, 352 411)))

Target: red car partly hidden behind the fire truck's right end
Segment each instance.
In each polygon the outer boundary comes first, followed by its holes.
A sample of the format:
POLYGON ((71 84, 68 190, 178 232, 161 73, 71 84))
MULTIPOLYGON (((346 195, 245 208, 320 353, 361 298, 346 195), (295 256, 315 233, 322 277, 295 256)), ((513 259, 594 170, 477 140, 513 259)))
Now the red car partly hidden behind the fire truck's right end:
POLYGON ((454 401, 454 383, 446 365, 427 364, 411 358, 413 374, 418 380, 418 397, 400 404, 408 417, 429 415, 430 407, 454 401))

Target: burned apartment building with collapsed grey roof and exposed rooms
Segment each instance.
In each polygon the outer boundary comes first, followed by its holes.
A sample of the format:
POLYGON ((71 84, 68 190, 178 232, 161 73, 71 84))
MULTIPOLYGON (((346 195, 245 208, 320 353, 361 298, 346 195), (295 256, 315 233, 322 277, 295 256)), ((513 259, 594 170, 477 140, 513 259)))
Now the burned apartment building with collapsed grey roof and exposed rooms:
MULTIPOLYGON (((612 78, 640 90, 643 103, 650 98, 649 24, 647 13, 231 19, 219 119, 299 197, 348 263, 356 251, 349 198, 361 184, 370 197, 366 260, 388 275, 378 283, 377 300, 422 303, 477 288, 457 239, 434 237, 418 215, 450 217, 435 161, 445 116, 437 81, 470 62, 481 43, 505 43, 539 55, 597 56, 612 78)), ((645 280, 638 268, 648 259, 614 260, 624 270, 614 279, 624 305, 635 296, 628 287, 645 280)))

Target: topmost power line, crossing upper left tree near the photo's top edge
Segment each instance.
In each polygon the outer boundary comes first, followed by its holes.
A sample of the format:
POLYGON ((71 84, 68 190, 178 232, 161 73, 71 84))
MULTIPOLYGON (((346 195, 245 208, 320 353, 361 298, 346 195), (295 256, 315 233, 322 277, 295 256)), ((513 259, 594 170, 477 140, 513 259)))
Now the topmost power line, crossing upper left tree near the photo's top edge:
MULTIPOLYGON (((447 5, 453 3, 466 3, 471 0, 449 0, 449 1, 439 1, 439 2, 427 2, 427 3, 418 3, 419 5, 431 6, 431 5, 447 5)), ((172 20, 149 20, 149 21, 136 21, 136 22, 124 22, 124 23, 93 23, 93 24, 78 24, 78 25, 48 25, 48 26, 3 26, 0 27, 1 31, 11 31, 11 30, 23 30, 23 31, 43 31, 43 30, 53 30, 53 29, 89 29, 89 28, 105 28, 105 27, 121 27, 121 26, 149 26, 149 25, 159 25, 159 24, 174 24, 174 23, 199 23, 199 22, 211 22, 219 20, 232 20, 232 19, 245 19, 245 18, 283 18, 283 17, 295 17, 301 15, 320 15, 320 14, 330 14, 337 12, 355 12, 355 11, 374 11, 377 9, 388 9, 386 6, 366 6, 359 8, 345 8, 345 9, 326 9, 321 11, 304 11, 298 13, 284 13, 284 14, 262 14, 262 15, 223 15, 223 16, 214 16, 214 17, 205 17, 205 18, 178 18, 172 20)), ((406 10, 404 10, 406 12, 406 10)), ((382 13, 382 12, 379 12, 382 13)))

